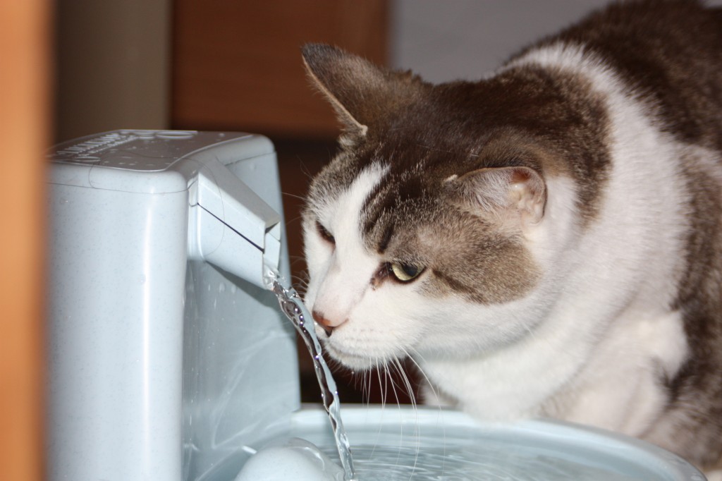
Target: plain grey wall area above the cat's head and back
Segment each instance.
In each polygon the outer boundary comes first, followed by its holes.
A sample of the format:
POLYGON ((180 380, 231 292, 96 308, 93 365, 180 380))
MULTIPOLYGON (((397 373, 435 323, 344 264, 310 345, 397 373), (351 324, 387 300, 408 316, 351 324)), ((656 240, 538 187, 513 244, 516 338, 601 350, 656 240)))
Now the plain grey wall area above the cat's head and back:
MULTIPOLYGON (((391 65, 431 82, 478 79, 612 0, 394 0, 391 65)), ((707 0, 722 6, 722 0, 707 0)))

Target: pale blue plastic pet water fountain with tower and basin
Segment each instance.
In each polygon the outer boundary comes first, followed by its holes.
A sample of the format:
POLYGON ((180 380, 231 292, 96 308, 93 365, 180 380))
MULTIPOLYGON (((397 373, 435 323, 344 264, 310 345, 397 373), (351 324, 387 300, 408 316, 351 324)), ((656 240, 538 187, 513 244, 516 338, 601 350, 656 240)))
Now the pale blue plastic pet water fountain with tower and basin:
MULTIPOLYGON (((121 130, 49 157, 49 479, 342 480, 268 287, 288 276, 271 142, 121 130)), ((360 481, 704 480, 565 423, 349 405, 342 419, 360 481)))

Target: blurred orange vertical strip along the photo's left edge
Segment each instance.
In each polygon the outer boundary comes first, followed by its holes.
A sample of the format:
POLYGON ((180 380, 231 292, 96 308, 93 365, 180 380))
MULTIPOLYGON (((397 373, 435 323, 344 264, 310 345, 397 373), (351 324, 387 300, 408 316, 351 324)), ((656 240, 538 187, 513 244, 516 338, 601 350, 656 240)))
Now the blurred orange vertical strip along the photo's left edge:
POLYGON ((50 4, 0 1, 0 480, 43 479, 50 4))

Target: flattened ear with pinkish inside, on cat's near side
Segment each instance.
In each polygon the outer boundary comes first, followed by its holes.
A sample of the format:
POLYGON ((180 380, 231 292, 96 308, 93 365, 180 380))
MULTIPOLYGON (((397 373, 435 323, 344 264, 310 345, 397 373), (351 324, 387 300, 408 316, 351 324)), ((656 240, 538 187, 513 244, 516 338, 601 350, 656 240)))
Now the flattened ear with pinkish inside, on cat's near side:
POLYGON ((531 168, 482 168, 448 178, 447 183, 456 202, 466 208, 502 219, 519 218, 526 226, 536 225, 544 217, 547 188, 531 168))

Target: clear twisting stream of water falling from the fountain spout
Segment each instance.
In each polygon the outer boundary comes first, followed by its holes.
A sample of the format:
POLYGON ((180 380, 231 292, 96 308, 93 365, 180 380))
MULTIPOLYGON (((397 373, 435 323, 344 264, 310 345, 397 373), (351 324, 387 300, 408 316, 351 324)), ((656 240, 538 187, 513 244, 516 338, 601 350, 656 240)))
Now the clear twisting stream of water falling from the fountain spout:
POLYGON ((344 423, 341 420, 341 402, 339 401, 339 393, 336 389, 336 381, 331 376, 331 370, 323 359, 323 349, 321 343, 318 342, 316 332, 313 329, 313 317, 303 304, 296 290, 290 285, 281 284, 281 278, 277 272, 269 272, 266 274, 266 286, 276 294, 279 306, 283 313, 290 319, 305 342, 308 351, 313 358, 313 366, 316 370, 316 378, 318 378, 318 386, 321 387, 321 398, 323 399, 323 407, 329 413, 331 420, 331 428, 334 430, 334 438, 336 438, 336 448, 339 451, 341 465, 344 468, 345 479, 347 481, 356 480, 354 465, 349 447, 349 439, 344 429, 344 423), (306 322, 308 320, 308 327, 306 322))

